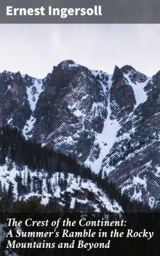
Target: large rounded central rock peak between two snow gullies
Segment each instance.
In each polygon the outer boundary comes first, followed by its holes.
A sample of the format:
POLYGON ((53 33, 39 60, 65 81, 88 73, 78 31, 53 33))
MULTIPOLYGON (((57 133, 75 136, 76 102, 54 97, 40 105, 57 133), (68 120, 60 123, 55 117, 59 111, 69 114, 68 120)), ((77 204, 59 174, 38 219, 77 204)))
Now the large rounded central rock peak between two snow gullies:
MULTIPOLYGON (((107 117, 108 103, 98 78, 73 61, 57 65, 44 80, 33 140, 85 161, 107 117)), ((107 81, 104 76, 104 87, 107 81)))

